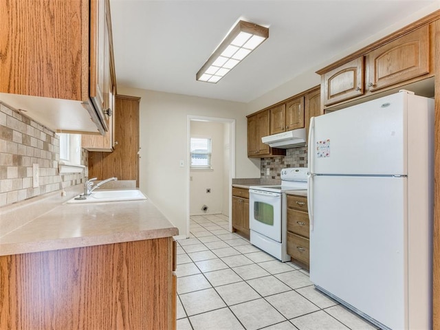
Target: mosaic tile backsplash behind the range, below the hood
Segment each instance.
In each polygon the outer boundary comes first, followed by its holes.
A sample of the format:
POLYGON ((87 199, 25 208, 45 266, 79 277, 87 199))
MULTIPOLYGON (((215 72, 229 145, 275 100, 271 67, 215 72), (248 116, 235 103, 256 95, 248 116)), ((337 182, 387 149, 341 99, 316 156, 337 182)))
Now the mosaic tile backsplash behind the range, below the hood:
POLYGON ((261 179, 281 179, 281 169, 289 167, 307 167, 307 146, 286 149, 285 156, 261 158, 261 179))

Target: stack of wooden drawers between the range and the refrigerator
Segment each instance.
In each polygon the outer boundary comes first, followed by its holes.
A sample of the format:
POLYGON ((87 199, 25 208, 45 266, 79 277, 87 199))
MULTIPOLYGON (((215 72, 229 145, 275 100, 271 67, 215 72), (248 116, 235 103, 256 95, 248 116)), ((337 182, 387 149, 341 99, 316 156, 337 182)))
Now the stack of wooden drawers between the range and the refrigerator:
POLYGON ((287 195, 287 254, 292 261, 310 267, 307 197, 287 195))

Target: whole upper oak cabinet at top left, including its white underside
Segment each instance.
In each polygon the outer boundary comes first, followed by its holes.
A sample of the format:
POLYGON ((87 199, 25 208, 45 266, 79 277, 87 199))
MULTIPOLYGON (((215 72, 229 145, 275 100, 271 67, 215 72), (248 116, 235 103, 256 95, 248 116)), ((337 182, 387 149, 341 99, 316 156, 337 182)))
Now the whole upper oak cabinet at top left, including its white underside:
POLYGON ((110 25, 109 0, 0 1, 0 99, 54 131, 103 134, 110 25))

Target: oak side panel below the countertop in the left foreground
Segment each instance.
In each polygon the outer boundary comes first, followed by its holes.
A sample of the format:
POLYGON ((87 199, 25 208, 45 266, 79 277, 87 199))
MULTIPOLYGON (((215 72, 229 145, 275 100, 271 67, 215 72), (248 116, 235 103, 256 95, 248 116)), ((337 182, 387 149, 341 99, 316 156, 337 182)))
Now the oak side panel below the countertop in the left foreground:
POLYGON ((0 329, 171 329, 172 238, 0 257, 0 329))

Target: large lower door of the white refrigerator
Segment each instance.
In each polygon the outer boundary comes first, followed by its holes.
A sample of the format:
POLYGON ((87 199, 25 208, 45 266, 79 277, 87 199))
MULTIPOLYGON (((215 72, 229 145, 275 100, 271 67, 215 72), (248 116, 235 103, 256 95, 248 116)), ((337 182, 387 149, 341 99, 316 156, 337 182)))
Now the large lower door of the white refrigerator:
POLYGON ((391 329, 408 329, 406 181, 313 180, 311 281, 391 329))

